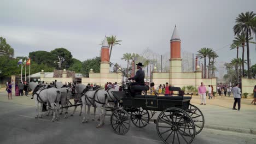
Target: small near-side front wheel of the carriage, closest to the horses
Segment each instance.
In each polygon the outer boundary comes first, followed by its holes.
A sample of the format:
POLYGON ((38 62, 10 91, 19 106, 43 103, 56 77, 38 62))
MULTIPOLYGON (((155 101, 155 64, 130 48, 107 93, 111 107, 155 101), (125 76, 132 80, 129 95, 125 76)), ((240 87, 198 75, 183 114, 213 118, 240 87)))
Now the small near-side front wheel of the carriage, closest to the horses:
POLYGON ((115 133, 124 135, 130 129, 130 117, 129 114, 123 109, 117 109, 113 111, 110 122, 115 133))

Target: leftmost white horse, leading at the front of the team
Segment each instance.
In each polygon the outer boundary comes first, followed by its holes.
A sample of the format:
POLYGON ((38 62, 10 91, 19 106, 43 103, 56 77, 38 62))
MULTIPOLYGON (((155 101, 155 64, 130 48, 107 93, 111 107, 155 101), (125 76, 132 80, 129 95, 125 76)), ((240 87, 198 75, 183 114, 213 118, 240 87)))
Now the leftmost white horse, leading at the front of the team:
MULTIPOLYGON (((30 82, 28 84, 28 88, 30 88, 34 95, 34 100, 36 101, 36 110, 37 115, 36 118, 42 118, 42 108, 43 103, 48 103, 49 109, 53 110, 53 119, 51 119, 51 122, 54 122, 55 120, 59 120, 59 101, 60 101, 60 91, 57 88, 44 88, 43 86, 39 86, 35 82, 30 82), (39 109, 39 103, 40 103, 40 109, 39 109), (56 103, 56 106, 54 105, 56 103), (57 110, 57 116, 56 116, 56 110, 57 110), (40 116, 38 117, 38 114, 40 116), (56 116, 56 117, 55 117, 56 116)), ((48 109, 48 115, 49 115, 49 109, 48 109)))

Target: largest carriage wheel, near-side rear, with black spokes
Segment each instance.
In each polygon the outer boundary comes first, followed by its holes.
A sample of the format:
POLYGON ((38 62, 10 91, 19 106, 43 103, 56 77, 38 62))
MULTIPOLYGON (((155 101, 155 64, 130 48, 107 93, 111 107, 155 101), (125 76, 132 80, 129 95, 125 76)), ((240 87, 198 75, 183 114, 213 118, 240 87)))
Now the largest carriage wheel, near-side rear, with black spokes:
POLYGON ((182 109, 168 108, 156 120, 156 130, 162 141, 169 143, 191 143, 195 137, 193 119, 182 109))

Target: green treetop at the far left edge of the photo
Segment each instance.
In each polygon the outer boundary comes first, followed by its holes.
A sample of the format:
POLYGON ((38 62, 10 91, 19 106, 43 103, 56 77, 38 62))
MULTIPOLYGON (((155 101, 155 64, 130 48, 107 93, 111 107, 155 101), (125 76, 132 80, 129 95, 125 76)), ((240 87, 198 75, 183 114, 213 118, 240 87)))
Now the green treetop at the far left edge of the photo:
POLYGON ((14 49, 6 43, 6 40, 3 37, 0 37, 0 56, 14 56, 14 49))

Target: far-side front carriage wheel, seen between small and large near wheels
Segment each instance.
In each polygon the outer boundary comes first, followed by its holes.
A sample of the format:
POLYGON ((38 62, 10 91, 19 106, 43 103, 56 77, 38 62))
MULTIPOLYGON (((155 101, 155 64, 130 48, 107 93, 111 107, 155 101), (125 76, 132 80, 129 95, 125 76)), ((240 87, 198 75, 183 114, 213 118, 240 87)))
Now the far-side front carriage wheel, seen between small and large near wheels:
POLYGON ((146 127, 149 122, 148 110, 139 108, 137 111, 131 112, 131 121, 138 128, 146 127))

